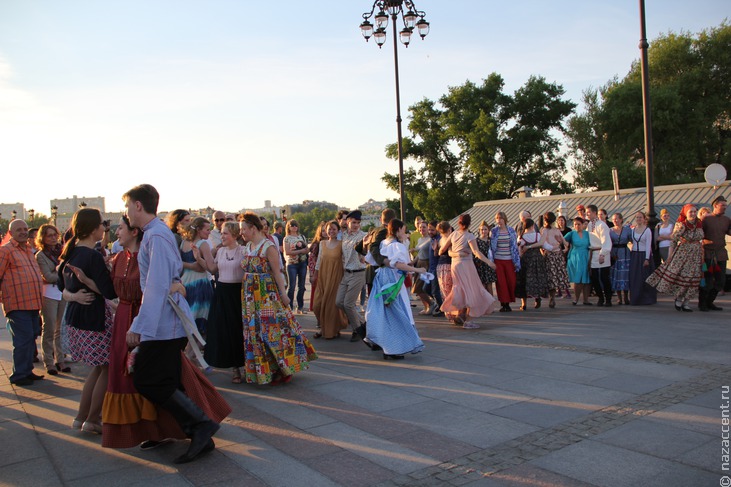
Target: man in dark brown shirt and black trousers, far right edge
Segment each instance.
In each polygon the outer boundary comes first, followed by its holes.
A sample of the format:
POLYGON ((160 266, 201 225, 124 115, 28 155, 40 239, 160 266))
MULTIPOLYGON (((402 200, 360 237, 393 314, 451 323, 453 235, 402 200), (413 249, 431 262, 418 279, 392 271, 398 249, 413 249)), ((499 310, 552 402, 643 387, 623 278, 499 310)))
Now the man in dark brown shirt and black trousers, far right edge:
POLYGON ((726 198, 718 196, 713 200, 713 213, 703 218, 703 259, 706 263, 706 285, 700 288, 698 309, 721 311, 713 304, 718 293, 726 284, 726 235, 731 235, 731 219, 726 216, 726 198))

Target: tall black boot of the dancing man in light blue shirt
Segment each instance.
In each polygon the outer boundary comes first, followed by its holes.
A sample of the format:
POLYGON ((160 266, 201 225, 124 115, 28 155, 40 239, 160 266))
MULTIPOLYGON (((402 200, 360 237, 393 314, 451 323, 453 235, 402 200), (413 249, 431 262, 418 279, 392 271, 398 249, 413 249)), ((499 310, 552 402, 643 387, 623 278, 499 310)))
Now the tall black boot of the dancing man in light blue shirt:
POLYGON ((192 462, 200 454, 207 453, 216 447, 212 437, 221 426, 209 419, 183 391, 176 390, 160 406, 175 418, 175 421, 190 437, 188 451, 176 458, 174 463, 192 462))

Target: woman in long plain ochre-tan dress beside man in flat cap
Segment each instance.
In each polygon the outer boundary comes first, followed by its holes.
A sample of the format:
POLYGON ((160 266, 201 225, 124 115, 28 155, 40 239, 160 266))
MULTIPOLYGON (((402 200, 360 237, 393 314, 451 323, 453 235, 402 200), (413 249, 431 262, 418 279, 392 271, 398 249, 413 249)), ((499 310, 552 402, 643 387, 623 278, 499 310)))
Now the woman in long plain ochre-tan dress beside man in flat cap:
POLYGON ((315 304, 313 312, 320 323, 320 331, 314 338, 325 337, 330 340, 340 336, 340 330, 348 326, 345 313, 335 306, 340 281, 343 279, 343 247, 338 240, 340 226, 335 220, 327 223, 327 240, 320 242, 315 272, 317 288, 315 288, 315 304))

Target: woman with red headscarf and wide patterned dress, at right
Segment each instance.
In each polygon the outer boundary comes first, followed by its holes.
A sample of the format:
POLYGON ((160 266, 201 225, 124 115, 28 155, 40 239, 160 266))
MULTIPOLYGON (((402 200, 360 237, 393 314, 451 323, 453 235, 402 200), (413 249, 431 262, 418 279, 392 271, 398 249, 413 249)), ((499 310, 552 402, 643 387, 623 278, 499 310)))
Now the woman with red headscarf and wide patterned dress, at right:
POLYGON ((675 297, 675 309, 693 311, 688 302, 698 296, 703 275, 703 225, 695 205, 685 205, 673 227, 668 259, 647 278, 647 284, 675 297))

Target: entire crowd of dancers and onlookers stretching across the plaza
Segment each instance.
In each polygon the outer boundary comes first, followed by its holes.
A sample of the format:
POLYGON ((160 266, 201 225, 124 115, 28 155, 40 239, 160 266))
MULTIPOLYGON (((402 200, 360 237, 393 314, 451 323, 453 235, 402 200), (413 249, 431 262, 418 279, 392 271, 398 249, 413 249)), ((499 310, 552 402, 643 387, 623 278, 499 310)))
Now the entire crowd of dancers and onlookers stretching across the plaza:
POLYGON ((293 219, 270 232, 252 212, 209 220, 174 210, 163 222, 150 185, 123 199, 114 242, 93 208, 79 209, 63 236, 45 224, 31 239, 26 222, 10 223, 0 247, 10 381, 43 379, 33 371, 41 337, 47 374, 69 373, 73 361, 91 367, 73 428, 111 448, 188 437, 180 463, 211 451, 230 413, 203 373, 209 366, 231 370, 234 384, 277 385, 317 359, 298 315, 314 313, 315 339, 349 330, 350 341, 401 360, 424 349, 415 311, 477 329, 476 318, 511 312, 517 299, 521 311, 529 300, 555 308, 561 297, 609 307, 653 304, 657 292, 681 312, 696 298, 700 311, 717 311, 731 235, 722 196, 705 211, 685 205, 675 223, 662 210, 654 232, 642 212, 610 218, 590 204, 576 208, 571 226, 527 211, 511 226, 500 211, 474 233, 469 214, 457 228, 417 218, 410 236, 391 209, 369 232, 359 210, 340 211, 309 240, 293 219))

